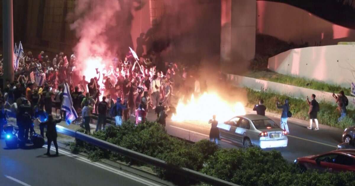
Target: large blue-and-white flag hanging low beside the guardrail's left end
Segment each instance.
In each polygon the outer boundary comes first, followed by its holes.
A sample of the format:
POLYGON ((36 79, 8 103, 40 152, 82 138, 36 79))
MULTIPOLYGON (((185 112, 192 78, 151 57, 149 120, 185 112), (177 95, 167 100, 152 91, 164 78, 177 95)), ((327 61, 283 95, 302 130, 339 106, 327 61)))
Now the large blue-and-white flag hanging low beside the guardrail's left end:
POLYGON ((73 100, 70 95, 68 83, 64 84, 62 110, 66 111, 66 123, 68 125, 78 118, 78 114, 73 107, 73 100))

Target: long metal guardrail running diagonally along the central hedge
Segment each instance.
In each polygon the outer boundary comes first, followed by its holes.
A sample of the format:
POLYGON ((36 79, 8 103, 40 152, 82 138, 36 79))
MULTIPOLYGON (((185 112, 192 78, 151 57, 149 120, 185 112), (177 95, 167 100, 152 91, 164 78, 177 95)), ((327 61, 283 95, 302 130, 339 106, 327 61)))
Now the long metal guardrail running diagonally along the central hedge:
POLYGON ((203 181, 203 182, 206 182, 206 183, 212 184, 212 185, 239 186, 239 185, 233 184, 228 181, 224 181, 224 180, 221 180, 221 179, 218 179, 218 178, 206 175, 206 174, 202 174, 202 173, 197 172, 195 170, 191 170, 191 169, 187 169, 187 168, 179 168, 179 167, 169 165, 161 159, 153 158, 151 156, 147 156, 145 154, 135 152, 135 151, 129 150, 127 148, 120 147, 118 145, 114 145, 114 144, 109 143, 107 141, 97 139, 97 138, 92 137, 90 135, 80 133, 75 130, 68 129, 63 126, 57 125, 56 128, 57 128, 58 133, 61 133, 61 134, 67 135, 67 136, 71 136, 71 137, 75 137, 76 139, 85 141, 87 143, 98 146, 100 148, 104 148, 104 149, 112 151, 112 152, 119 153, 122 156, 130 157, 130 158, 135 159, 140 162, 151 164, 156 167, 163 168, 163 169, 172 170, 172 171, 175 171, 176 173, 181 174, 181 175, 187 175, 191 179, 203 181))

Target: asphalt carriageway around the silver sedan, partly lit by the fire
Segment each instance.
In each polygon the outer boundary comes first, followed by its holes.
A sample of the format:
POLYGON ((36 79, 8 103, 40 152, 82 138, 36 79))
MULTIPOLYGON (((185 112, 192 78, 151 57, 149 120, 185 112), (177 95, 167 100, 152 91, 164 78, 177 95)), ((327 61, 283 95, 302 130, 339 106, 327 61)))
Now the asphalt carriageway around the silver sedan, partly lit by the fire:
MULTIPOLYGON (((279 124, 279 118, 269 117, 279 124)), ((148 120, 156 119, 156 115, 151 111, 148 114, 148 120)), ((341 142, 342 131, 339 129, 322 129, 309 130, 306 126, 294 122, 288 122, 290 134, 288 135, 288 146, 282 148, 268 148, 266 151, 277 150, 282 156, 290 162, 298 157, 321 154, 336 150, 337 145, 341 142)), ((201 122, 175 122, 166 119, 166 130, 170 135, 180 137, 189 141, 199 141, 201 139, 209 139, 210 125, 201 122)), ((313 124, 315 127, 315 124, 313 124)), ((239 144, 230 141, 219 141, 223 148, 240 148, 239 144)))

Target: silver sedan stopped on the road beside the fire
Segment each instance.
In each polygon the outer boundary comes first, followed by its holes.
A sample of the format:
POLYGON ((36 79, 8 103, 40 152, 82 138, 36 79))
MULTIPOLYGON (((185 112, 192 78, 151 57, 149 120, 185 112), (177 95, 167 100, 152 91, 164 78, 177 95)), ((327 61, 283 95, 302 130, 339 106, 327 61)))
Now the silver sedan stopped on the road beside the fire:
POLYGON ((287 132, 273 120, 257 114, 236 116, 226 122, 218 123, 223 139, 240 143, 244 147, 251 145, 261 148, 287 146, 287 132))

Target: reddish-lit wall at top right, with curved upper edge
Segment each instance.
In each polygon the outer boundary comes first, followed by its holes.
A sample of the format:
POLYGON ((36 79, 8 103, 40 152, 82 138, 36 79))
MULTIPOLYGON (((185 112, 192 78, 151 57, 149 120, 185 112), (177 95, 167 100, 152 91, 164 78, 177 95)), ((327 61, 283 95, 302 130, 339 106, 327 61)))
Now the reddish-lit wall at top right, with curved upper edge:
POLYGON ((355 41, 355 30, 333 24, 311 13, 279 2, 257 1, 257 33, 309 46, 355 41))

